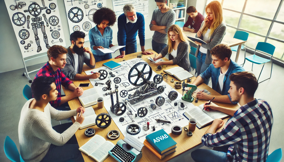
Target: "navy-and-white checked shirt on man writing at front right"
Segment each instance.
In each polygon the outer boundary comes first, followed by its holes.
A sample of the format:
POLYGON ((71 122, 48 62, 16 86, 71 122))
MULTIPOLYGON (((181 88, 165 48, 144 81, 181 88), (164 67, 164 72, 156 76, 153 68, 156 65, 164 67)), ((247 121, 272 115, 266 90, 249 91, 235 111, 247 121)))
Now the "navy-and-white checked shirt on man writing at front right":
POLYGON ((222 131, 205 134, 207 147, 230 145, 226 161, 266 161, 273 124, 272 110, 264 100, 253 100, 240 107, 222 131))

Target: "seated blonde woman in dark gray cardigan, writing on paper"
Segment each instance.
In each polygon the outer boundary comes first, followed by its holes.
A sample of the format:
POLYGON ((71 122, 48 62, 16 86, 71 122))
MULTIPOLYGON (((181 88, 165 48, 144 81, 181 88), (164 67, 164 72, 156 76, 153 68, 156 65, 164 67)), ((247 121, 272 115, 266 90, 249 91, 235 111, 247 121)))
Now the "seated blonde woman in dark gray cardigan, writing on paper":
POLYGON ((177 25, 172 25, 168 30, 167 46, 154 58, 156 61, 159 58, 165 57, 169 53, 169 61, 159 61, 156 64, 177 64, 190 72, 189 62, 189 44, 181 29, 177 25))

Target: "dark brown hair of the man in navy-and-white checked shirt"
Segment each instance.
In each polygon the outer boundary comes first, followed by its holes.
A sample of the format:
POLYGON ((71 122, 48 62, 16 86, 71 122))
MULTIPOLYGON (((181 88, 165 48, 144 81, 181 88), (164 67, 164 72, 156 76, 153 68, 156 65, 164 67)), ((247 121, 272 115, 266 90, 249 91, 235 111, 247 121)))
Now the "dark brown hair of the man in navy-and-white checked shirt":
POLYGON ((232 73, 230 75, 230 80, 234 82, 234 85, 236 85, 237 89, 243 87, 249 97, 253 97, 258 87, 258 82, 255 75, 247 71, 232 73))

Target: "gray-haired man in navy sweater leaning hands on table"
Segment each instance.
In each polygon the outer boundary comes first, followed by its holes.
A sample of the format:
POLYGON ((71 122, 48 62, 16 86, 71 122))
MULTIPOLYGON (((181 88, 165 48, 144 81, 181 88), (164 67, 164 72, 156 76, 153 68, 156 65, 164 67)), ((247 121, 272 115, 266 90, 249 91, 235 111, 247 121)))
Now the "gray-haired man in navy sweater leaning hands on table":
POLYGON ((117 40, 119 46, 125 46, 121 49, 120 55, 116 58, 124 58, 125 55, 137 52, 136 36, 140 40, 141 51, 145 53, 145 21, 144 16, 135 12, 133 4, 125 4, 123 14, 118 17, 117 40))

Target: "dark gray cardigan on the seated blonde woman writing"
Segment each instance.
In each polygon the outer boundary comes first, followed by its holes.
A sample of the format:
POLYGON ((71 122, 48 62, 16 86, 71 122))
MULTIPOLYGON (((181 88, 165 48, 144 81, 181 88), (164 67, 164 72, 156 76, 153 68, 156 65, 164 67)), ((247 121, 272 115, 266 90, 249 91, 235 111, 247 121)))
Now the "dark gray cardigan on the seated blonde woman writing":
MULTIPOLYGON (((169 46, 166 46, 161 54, 163 57, 168 54, 169 46)), ((169 54, 169 60, 173 60, 173 64, 177 64, 180 67, 184 68, 186 71, 190 72, 190 62, 189 62, 189 44, 188 42, 180 42, 178 45, 178 49, 176 51, 176 58, 173 58, 171 54, 169 54)))

